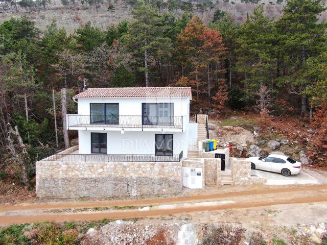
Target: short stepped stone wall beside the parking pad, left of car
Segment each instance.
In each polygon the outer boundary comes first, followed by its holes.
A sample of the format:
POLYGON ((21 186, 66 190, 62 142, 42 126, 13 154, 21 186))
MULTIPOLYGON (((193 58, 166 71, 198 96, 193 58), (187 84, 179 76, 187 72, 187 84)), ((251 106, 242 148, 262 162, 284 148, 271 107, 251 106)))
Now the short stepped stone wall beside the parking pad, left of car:
POLYGON ((231 174, 235 185, 263 184, 265 177, 251 176, 251 162, 245 158, 231 158, 231 174))

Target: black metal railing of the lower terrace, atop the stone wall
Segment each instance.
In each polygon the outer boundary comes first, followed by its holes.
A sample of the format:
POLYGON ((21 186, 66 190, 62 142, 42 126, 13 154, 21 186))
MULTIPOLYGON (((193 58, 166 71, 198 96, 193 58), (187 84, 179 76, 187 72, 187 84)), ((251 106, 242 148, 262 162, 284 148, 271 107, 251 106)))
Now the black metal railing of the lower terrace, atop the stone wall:
POLYGON ((43 161, 64 162, 180 162, 183 151, 178 155, 134 155, 134 154, 55 154, 43 161))

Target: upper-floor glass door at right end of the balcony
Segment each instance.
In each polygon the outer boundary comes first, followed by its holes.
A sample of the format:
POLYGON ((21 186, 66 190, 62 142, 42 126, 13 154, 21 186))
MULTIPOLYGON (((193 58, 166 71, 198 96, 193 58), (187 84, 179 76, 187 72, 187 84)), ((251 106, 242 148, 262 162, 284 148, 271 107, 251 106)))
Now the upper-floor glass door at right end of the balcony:
POLYGON ((174 103, 142 103, 143 125, 174 125, 174 103))

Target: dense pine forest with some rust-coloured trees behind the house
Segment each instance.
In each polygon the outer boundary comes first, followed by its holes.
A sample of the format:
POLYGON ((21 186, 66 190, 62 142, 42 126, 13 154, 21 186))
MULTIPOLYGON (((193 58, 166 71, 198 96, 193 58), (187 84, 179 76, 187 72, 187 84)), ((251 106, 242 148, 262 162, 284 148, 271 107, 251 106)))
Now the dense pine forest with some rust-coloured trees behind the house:
POLYGON ((188 12, 159 10, 141 0, 132 21, 107 30, 87 22, 69 35, 55 21, 41 32, 26 16, 0 24, 0 179, 15 176, 33 186, 35 161, 65 147, 60 90, 66 89, 67 113, 75 113, 70 97, 84 83, 190 86, 193 113, 296 116, 316 131, 310 159, 326 165, 327 29, 318 21, 326 10, 320 0, 287 0, 277 20, 258 5, 244 23, 219 9, 208 24, 188 12))

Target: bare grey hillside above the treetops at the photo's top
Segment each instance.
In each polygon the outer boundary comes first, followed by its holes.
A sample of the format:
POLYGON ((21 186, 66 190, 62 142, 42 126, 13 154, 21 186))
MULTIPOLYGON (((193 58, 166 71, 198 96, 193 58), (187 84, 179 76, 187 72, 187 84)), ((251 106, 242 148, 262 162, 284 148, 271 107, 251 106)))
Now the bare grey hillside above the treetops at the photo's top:
MULTIPOLYGON (((211 1, 209 1, 210 3, 211 1)), ((202 9, 199 6, 200 1, 193 1, 193 15, 199 16, 204 23, 207 23, 209 19, 212 19, 214 16, 214 12, 216 9, 220 9, 222 11, 228 11, 233 15, 238 22, 243 22, 246 19, 247 14, 251 14, 253 9, 258 4, 252 4, 247 2, 255 2, 255 1, 245 1, 245 0, 234 0, 234 1, 217 1, 212 5, 212 9, 209 7, 202 9)), ((282 13, 283 3, 280 0, 262 0, 259 4, 263 4, 265 6, 265 14, 269 17, 279 17, 282 13)), ((183 3, 183 2, 181 2, 183 3)), ((200 3, 201 4, 201 3, 200 3)), ((205 4, 205 3, 203 3, 205 4)), ((74 29, 80 27, 85 24, 87 21, 91 21, 91 23, 105 30, 111 24, 116 24, 121 22, 122 20, 130 20, 131 17, 131 9, 133 8, 131 5, 128 5, 122 1, 115 1, 112 3, 114 7, 114 12, 108 12, 108 6, 110 5, 109 1, 104 1, 97 5, 98 8, 94 6, 90 6, 89 4, 81 4, 75 3, 69 6, 63 6, 61 2, 58 0, 52 2, 49 5, 44 6, 44 8, 24 8, 19 7, 17 5, 17 11, 14 9, 8 9, 3 4, 2 12, 0 12, 0 23, 5 20, 10 19, 11 17, 20 17, 22 15, 27 15, 31 18, 31 20, 35 21, 36 27, 40 30, 44 30, 46 25, 51 23, 53 20, 57 21, 58 27, 64 27, 68 33, 74 32, 74 29), (45 9, 45 11, 44 11, 45 9)), ((161 8, 161 12, 169 11, 168 8, 161 8)), ((177 16, 181 16, 183 10, 176 9, 173 12, 176 13, 177 16)), ((321 18, 325 19, 326 15, 324 13, 321 18)))

